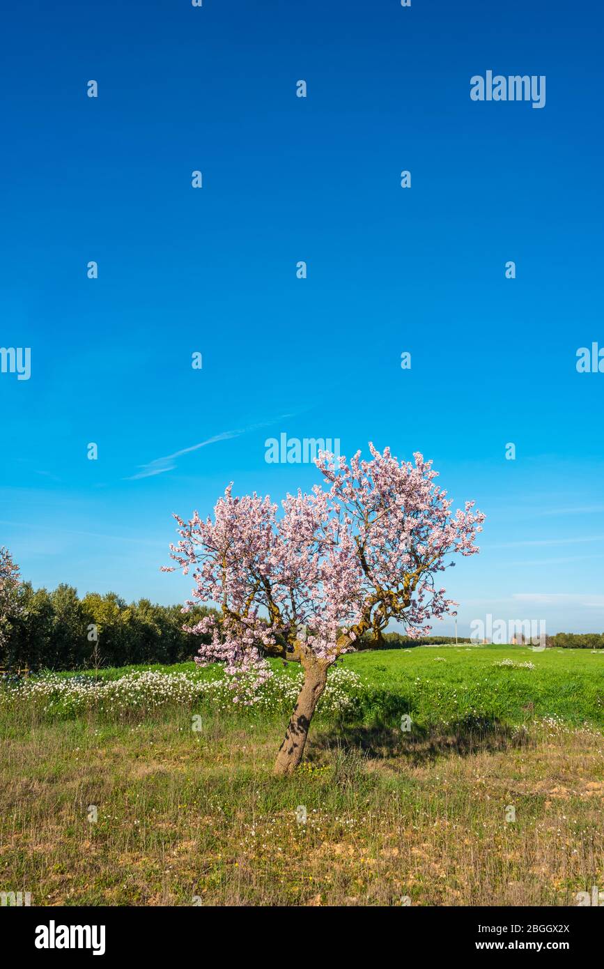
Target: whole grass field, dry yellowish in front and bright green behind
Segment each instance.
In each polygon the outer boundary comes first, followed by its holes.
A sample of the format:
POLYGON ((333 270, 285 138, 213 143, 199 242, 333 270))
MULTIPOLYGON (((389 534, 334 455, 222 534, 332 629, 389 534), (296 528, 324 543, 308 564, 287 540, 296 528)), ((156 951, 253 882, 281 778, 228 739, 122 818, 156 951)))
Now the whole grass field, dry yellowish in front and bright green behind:
POLYGON ((271 775, 282 710, 206 702, 192 730, 195 704, 0 704, 0 891, 41 905, 567 905, 604 889, 604 655, 460 645, 343 666, 360 677, 352 707, 317 715, 287 778, 271 775))

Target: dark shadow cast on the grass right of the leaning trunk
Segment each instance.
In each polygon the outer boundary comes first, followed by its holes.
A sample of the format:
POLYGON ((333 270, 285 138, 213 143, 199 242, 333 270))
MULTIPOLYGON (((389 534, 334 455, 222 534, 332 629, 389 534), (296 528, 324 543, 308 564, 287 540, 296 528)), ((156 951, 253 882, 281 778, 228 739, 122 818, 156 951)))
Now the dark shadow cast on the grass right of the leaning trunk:
POLYGON ((420 728, 408 732, 399 726, 378 724, 372 727, 342 725, 318 729, 311 735, 308 759, 322 759, 325 753, 356 752, 372 760, 404 758, 412 766, 433 763, 438 757, 468 757, 479 753, 500 753, 532 746, 522 728, 509 727, 497 718, 462 721, 455 726, 420 728))

